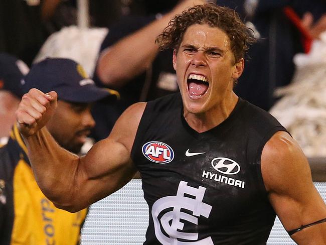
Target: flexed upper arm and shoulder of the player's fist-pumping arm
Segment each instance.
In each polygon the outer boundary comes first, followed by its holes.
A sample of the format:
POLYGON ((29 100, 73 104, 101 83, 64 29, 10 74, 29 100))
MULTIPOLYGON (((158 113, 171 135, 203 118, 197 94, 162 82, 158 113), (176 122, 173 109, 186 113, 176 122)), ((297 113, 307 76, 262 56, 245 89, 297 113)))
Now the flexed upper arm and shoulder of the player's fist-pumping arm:
POLYGON ((78 209, 115 192, 136 173, 130 152, 144 106, 139 103, 129 107, 117 120, 109 137, 96 143, 79 159, 73 181, 76 186, 71 192, 79 199, 78 209))

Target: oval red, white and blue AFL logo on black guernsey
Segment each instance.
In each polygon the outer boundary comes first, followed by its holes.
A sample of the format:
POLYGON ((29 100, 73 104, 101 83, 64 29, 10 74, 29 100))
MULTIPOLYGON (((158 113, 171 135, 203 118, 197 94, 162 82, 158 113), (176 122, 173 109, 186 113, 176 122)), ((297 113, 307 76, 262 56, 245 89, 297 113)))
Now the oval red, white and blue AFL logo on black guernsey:
POLYGON ((142 146, 142 154, 154 163, 166 164, 172 162, 175 153, 172 148, 159 141, 150 141, 142 146))

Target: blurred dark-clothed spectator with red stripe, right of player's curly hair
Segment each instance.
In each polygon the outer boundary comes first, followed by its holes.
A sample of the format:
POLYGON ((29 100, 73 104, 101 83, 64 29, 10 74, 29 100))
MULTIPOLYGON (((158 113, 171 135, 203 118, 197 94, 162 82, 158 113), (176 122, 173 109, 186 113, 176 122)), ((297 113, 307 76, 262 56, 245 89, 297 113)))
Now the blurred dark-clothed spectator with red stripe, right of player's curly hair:
POLYGON ((323 0, 234 0, 245 20, 260 36, 249 50, 246 69, 236 93, 268 110, 276 101, 274 89, 287 85, 294 73, 293 56, 308 52, 311 40, 326 30, 323 0), (255 88, 255 89, 252 89, 255 88))

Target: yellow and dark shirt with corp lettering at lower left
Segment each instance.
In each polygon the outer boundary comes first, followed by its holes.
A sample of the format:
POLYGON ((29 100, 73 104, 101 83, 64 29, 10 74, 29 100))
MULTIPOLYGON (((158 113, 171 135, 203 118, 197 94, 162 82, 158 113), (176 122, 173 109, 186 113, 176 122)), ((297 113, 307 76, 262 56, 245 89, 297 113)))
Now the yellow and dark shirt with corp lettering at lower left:
POLYGON ((58 209, 44 196, 15 126, 0 148, 0 245, 77 244, 86 214, 58 209))

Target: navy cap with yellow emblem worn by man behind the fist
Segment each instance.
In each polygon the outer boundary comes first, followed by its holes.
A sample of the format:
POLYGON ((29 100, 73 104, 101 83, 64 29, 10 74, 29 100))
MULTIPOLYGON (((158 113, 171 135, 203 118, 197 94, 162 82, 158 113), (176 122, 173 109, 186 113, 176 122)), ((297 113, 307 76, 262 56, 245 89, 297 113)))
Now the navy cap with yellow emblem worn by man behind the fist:
POLYGON ((44 93, 54 90, 58 99, 69 102, 89 103, 118 96, 114 90, 97 87, 80 64, 66 58, 46 58, 34 64, 22 87, 24 93, 31 88, 44 93))

